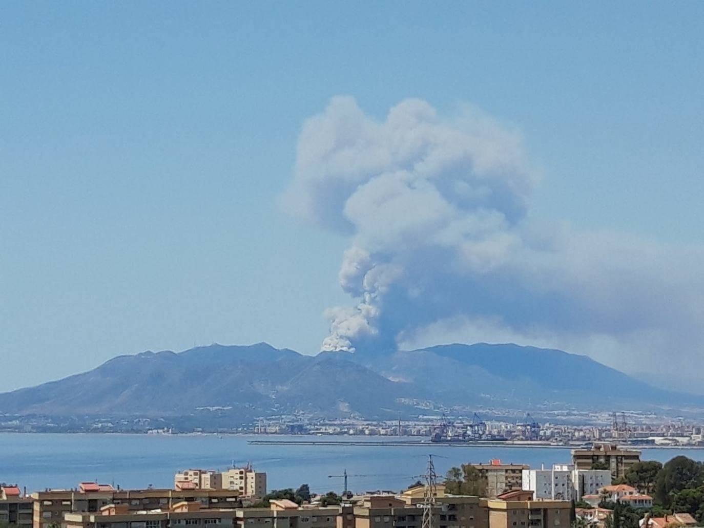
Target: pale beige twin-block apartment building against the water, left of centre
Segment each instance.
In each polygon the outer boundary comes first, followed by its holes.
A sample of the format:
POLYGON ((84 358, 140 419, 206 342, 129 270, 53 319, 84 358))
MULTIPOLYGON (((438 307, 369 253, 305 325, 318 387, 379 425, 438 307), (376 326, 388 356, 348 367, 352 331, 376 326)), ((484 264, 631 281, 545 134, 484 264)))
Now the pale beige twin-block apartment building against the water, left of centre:
POLYGON ((184 470, 174 476, 175 489, 229 489, 247 498, 266 495, 266 473, 251 466, 230 467, 226 471, 184 470))

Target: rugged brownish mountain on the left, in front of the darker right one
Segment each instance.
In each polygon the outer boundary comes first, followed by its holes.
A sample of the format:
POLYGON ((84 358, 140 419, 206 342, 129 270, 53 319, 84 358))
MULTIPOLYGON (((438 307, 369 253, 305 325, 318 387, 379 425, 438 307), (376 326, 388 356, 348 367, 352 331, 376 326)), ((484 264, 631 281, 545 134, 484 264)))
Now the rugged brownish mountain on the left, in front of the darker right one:
POLYGON ((395 407, 403 387, 349 361, 264 343, 212 345, 113 358, 80 375, 0 394, 0 412, 161 416, 226 408, 236 415, 245 409, 247 415, 368 415, 377 414, 379 402, 395 407), (364 391, 368 396, 360 397, 364 391))

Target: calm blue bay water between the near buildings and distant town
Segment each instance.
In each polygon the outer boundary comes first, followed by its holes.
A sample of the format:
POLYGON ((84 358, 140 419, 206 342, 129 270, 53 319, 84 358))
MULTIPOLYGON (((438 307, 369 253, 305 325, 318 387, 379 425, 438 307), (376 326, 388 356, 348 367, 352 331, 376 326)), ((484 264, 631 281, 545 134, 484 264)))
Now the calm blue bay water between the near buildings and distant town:
MULTIPOLYGON (((253 439, 320 440, 320 436, 217 436, 147 434, 0 434, 0 482, 26 486, 27 491, 71 488, 99 481, 122 488, 169 488, 177 470, 189 467, 225 468, 252 463, 268 473, 269 489, 296 487, 304 482, 313 491, 341 491, 350 474, 353 491, 402 489, 425 472, 427 455, 444 474, 453 465, 501 458, 532 467, 569 463, 570 448, 527 446, 376 445, 384 437, 324 437, 331 441, 372 441, 364 446, 247 444, 253 439)), ((398 439, 387 438, 388 441, 398 439)), ((407 439, 412 440, 412 439, 407 439)), ((643 460, 665 462, 684 454, 704 460, 700 448, 643 448, 643 460)))

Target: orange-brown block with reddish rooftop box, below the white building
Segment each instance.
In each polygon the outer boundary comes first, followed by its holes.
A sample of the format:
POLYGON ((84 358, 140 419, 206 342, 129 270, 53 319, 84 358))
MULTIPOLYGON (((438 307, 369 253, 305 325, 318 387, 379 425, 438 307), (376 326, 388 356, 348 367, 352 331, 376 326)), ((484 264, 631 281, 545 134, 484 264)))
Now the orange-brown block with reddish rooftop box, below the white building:
POLYGON ((535 501, 532 491, 507 491, 482 499, 489 516, 488 528, 570 527, 570 501, 535 501))

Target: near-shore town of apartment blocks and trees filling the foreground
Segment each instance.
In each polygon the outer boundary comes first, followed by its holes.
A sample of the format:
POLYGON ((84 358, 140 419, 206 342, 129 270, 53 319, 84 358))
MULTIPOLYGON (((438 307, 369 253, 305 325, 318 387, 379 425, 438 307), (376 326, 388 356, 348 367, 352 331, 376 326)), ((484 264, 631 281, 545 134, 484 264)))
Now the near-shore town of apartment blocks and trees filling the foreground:
MULTIPOLYGON (((1 479, 1 475, 0 475, 1 479)), ((465 463, 401 491, 314 494, 308 484, 268 490, 252 465, 184 469, 170 489, 80 482, 27 491, 2 484, 3 528, 675 528, 704 520, 704 468, 679 456, 662 465, 609 442, 575 448, 551 467, 465 463)))

